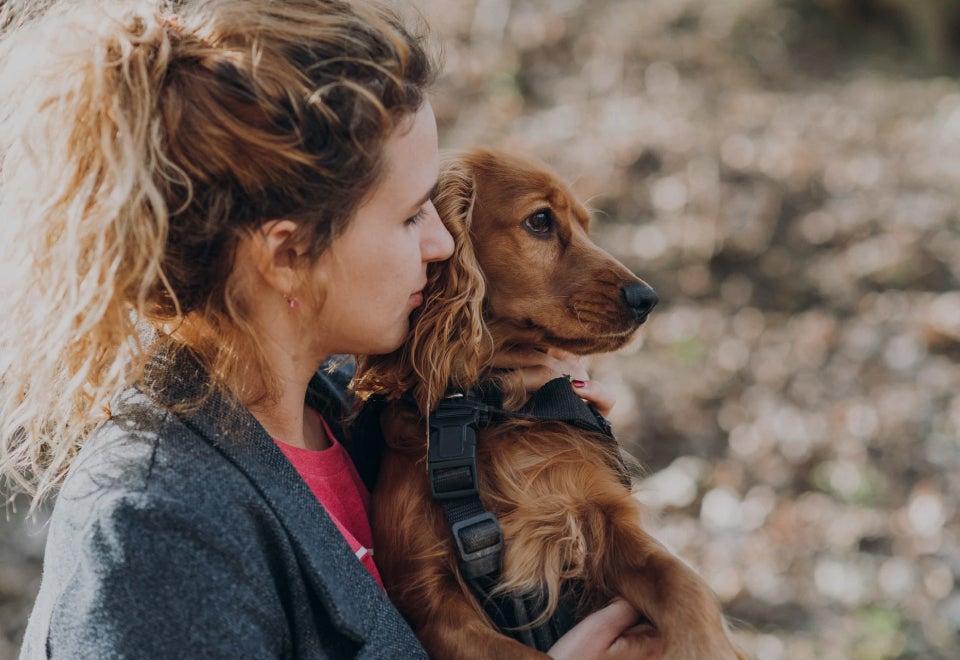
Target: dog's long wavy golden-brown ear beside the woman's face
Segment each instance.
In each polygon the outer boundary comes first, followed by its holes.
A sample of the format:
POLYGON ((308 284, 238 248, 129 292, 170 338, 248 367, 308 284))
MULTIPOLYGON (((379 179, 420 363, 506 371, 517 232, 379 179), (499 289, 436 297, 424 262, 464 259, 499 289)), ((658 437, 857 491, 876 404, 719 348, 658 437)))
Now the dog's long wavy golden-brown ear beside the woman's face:
POLYGON ((411 319, 410 337, 388 355, 359 360, 353 388, 364 398, 413 390, 426 415, 448 390, 474 385, 492 355, 483 322, 483 273, 470 242, 476 186, 466 161, 445 159, 433 204, 453 236, 453 256, 427 268, 424 304, 411 319))

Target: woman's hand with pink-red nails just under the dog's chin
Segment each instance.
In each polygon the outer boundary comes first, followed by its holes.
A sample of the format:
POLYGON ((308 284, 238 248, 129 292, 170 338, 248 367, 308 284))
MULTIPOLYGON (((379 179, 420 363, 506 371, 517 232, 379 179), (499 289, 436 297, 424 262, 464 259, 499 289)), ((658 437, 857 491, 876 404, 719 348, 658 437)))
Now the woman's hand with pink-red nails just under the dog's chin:
POLYGON ((501 369, 514 369, 523 380, 527 392, 535 392, 548 381, 561 376, 570 376, 574 391, 597 412, 608 417, 617 398, 613 392, 597 381, 590 380, 579 356, 557 348, 546 352, 536 349, 517 349, 502 354, 496 363, 501 369))

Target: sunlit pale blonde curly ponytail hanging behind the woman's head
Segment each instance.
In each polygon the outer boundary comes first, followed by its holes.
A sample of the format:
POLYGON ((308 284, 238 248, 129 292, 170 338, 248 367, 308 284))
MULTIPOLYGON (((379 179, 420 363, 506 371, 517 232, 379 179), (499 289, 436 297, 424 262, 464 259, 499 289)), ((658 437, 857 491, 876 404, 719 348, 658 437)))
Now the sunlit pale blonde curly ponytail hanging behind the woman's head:
POLYGON ((171 36, 152 14, 48 14, 0 45, 0 467, 40 495, 137 374, 134 325, 164 286, 171 36))

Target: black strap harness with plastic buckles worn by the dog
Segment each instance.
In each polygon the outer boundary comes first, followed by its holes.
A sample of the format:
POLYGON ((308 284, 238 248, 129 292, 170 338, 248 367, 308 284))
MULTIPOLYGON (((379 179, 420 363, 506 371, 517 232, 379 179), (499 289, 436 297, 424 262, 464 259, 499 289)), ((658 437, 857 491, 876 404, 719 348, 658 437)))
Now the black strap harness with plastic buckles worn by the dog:
MULTIPOLYGON (((495 391, 468 392, 443 399, 431 413, 427 473, 430 492, 443 507, 460 560, 460 570, 487 614, 506 635, 546 651, 577 622, 580 586, 563 585, 556 612, 546 623, 530 625, 544 611, 539 594, 491 596, 500 578, 503 533, 496 517, 484 509, 477 480, 477 431, 506 419, 561 421, 596 431, 615 443, 610 424, 578 397, 567 378, 557 378, 537 390, 517 412, 501 408, 495 391)), ((619 457, 619 454, 614 453, 619 457)), ((617 466, 629 488, 622 461, 617 466)))

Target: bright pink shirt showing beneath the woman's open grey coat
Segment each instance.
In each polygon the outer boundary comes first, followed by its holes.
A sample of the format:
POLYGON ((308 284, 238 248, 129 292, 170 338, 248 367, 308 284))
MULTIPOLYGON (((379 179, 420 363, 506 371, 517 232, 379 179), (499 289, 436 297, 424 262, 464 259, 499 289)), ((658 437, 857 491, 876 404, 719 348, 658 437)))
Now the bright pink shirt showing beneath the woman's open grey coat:
POLYGON ((320 500, 357 559, 383 586, 380 573, 373 563, 370 493, 360 480, 350 455, 330 432, 326 420, 320 417, 320 421, 330 440, 327 449, 313 451, 284 444, 276 438, 273 441, 320 500))

